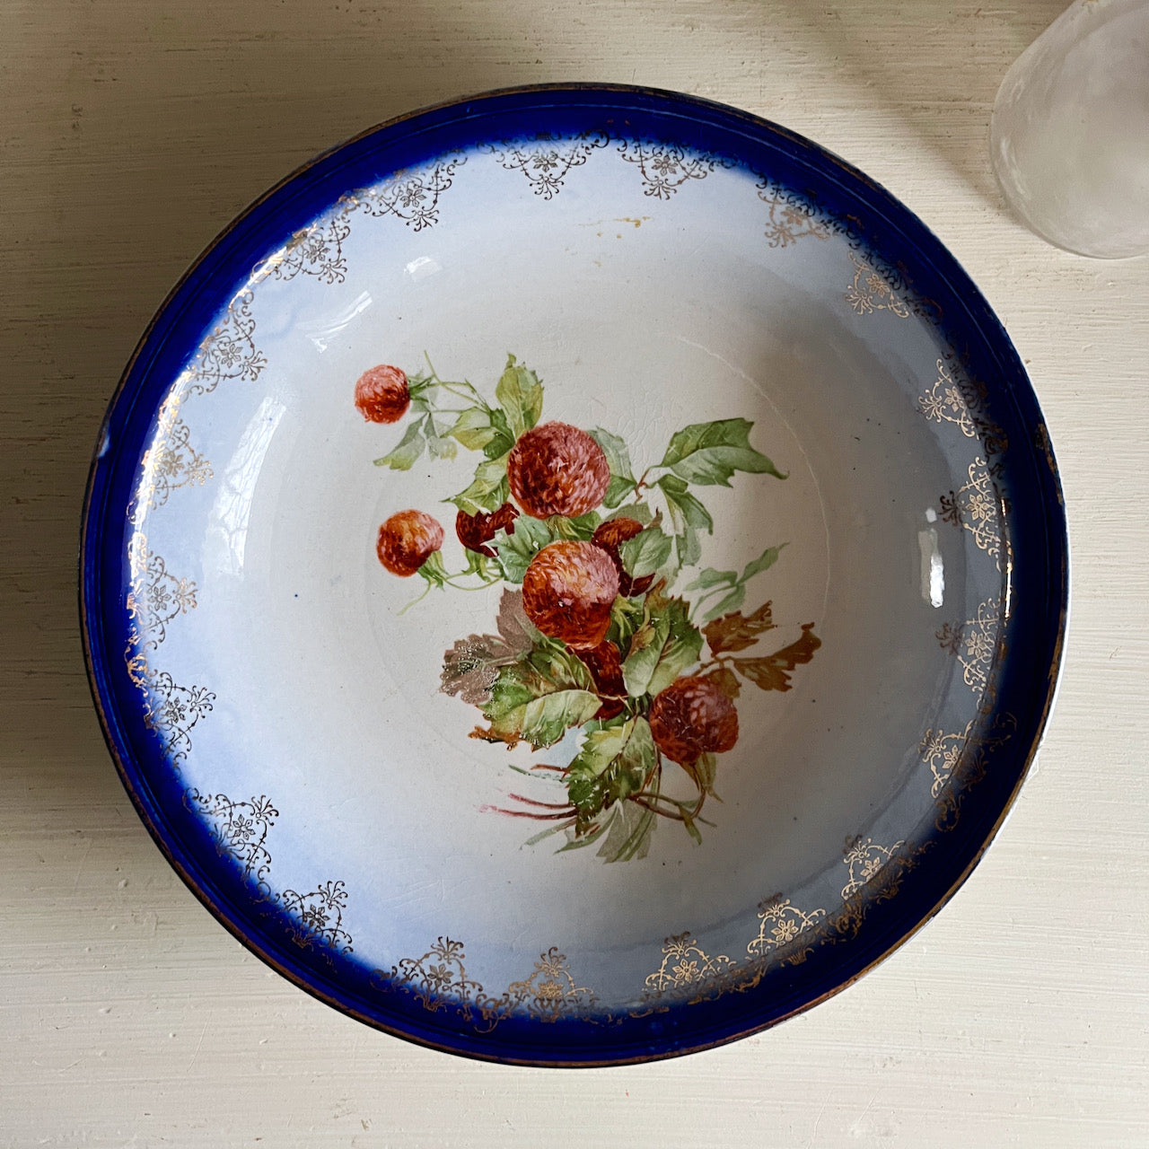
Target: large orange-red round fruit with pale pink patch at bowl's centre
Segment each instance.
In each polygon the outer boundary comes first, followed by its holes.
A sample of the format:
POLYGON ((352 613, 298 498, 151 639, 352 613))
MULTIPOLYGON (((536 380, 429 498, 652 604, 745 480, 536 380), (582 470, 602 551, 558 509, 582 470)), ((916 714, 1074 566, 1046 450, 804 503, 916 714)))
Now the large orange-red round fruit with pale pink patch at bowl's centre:
POLYGON ((618 571, 593 542, 552 542, 523 576, 526 617, 577 649, 596 647, 607 637, 617 595, 618 571))

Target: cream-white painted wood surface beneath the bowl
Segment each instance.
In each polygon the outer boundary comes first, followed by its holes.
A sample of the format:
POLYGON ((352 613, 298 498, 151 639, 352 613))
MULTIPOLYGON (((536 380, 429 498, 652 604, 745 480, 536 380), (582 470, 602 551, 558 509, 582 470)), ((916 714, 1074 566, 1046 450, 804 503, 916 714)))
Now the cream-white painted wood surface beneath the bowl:
POLYGON ((1059 0, 8 0, 0 14, 0 1144, 1149 1143, 1149 259, 1004 213, 986 137, 1059 0), (676 1062, 466 1063, 292 988, 136 819, 77 637, 77 524, 116 378, 269 184, 508 84, 678 88, 778 119, 930 224, 1009 329, 1073 533, 1040 770, 944 912, 856 987, 676 1062))

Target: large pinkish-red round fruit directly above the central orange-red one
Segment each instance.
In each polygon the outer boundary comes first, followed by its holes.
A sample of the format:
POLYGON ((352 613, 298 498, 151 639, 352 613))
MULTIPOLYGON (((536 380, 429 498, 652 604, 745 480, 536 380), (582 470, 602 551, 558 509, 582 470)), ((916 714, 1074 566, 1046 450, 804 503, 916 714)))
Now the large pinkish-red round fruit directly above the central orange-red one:
POLYGON ((532 518, 577 518, 602 502, 610 466, 602 448, 569 423, 540 423, 507 460, 510 493, 532 518))

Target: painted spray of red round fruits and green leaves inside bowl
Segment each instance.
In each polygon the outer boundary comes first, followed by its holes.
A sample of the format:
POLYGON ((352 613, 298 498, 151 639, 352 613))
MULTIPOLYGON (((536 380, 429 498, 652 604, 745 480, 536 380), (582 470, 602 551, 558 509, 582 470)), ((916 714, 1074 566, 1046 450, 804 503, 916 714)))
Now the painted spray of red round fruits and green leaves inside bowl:
POLYGON ((455 642, 441 689, 478 708, 485 722, 472 738, 555 748, 548 757, 566 761, 512 766, 549 781, 561 801, 510 794, 514 805, 485 809, 547 823, 531 845, 564 834, 563 850, 597 843, 608 862, 640 858, 660 818, 702 840, 717 756, 738 742, 742 683, 788 691, 822 643, 807 623, 771 654, 743 654, 776 626, 770 602, 742 612, 747 584, 785 543, 741 571, 703 568, 674 593, 714 532, 696 489, 731 486, 735 472, 786 477, 750 446, 751 423, 691 424, 635 478, 619 437, 540 422, 542 393, 514 355, 495 406, 468 381, 440 379, 430 361, 410 375, 367 370, 360 412, 375 423, 412 416, 377 465, 409 470, 424 453, 454 458, 460 446, 480 455, 473 481, 444 500, 456 508, 462 570, 448 571, 444 529, 422 510, 393 514, 376 550, 392 574, 424 579, 416 602, 432 589, 502 585, 498 633, 455 642))

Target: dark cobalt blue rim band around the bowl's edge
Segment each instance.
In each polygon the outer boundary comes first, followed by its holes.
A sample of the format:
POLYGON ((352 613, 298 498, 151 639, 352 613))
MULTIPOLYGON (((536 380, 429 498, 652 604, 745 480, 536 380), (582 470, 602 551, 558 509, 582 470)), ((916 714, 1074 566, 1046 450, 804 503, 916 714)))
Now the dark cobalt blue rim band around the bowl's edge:
POLYGON ((778 125, 693 97, 606 85, 514 88, 400 117, 323 154, 256 201, 193 264, 140 340, 92 463, 80 547, 80 623, 105 738, 141 819, 201 902, 278 972, 360 1020, 432 1048, 532 1065, 624 1064, 722 1044, 831 996, 897 948, 964 881, 1024 780, 1052 703, 1067 601, 1063 499, 1040 408, 1009 337, 941 242, 884 188, 778 125), (1012 657, 1002 669, 997 705, 1017 717, 1018 733, 990 755, 988 778, 970 800, 961 831, 947 836, 943 848, 930 849, 928 865, 905 876, 897 897, 867 911, 848 946, 822 946, 802 965, 774 970, 745 992, 653 1018, 600 1028, 511 1021, 479 1036, 380 990, 352 961, 331 969, 293 951, 287 920, 259 907, 250 887, 221 864, 202 824, 183 810, 171 772, 165 777, 155 769, 156 745, 133 726, 138 693, 124 680, 124 515, 140 445, 165 388, 262 255, 350 187, 492 136, 586 130, 669 139, 769 171, 835 217, 861 225, 861 238, 893 257, 910 288, 939 309, 951 346, 971 373, 990 383, 990 412, 1015 445, 1005 477, 1012 504, 1012 657))

